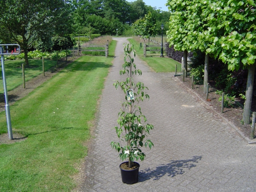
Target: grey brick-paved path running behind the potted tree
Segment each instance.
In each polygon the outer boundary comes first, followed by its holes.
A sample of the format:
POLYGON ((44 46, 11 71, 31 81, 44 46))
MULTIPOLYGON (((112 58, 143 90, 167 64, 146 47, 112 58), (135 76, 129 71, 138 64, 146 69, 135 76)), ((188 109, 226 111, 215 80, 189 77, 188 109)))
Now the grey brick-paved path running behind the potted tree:
POLYGON ((113 67, 105 81, 99 106, 95 139, 86 158, 84 192, 194 192, 256 191, 256 145, 247 145, 231 126, 209 110, 173 73, 154 73, 138 57, 140 81, 148 87, 150 99, 142 111, 154 125, 150 139, 155 147, 145 150, 140 163, 139 182, 122 183, 116 141, 112 128, 121 103, 122 91, 113 87, 121 79, 123 43, 117 40, 113 67))

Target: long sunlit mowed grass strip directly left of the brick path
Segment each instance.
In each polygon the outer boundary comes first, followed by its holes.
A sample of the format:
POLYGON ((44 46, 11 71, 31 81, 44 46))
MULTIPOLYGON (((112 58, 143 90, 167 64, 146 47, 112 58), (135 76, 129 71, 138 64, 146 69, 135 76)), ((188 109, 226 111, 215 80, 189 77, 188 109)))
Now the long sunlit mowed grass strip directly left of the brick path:
MULTIPOLYGON (((25 141, 0 145, 0 191, 70 191, 87 154, 113 58, 83 56, 10 107, 13 132, 25 141)), ((0 113, 0 133, 6 114, 0 113)))

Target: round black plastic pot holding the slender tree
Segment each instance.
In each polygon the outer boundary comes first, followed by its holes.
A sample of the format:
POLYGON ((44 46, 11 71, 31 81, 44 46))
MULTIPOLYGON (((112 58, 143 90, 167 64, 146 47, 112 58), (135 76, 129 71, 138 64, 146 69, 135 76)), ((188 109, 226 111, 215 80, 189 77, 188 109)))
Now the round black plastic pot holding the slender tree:
MULTIPOLYGON (((123 163, 127 163, 123 162, 123 163)), ((126 183, 126 184, 134 184, 138 182, 139 179, 139 168, 140 168, 140 164, 137 162, 134 162, 138 165, 138 167, 136 169, 132 169, 132 170, 125 170, 121 168, 121 165, 123 164, 121 163, 119 165, 119 168, 121 170, 121 177, 122 177, 122 182, 126 183)))

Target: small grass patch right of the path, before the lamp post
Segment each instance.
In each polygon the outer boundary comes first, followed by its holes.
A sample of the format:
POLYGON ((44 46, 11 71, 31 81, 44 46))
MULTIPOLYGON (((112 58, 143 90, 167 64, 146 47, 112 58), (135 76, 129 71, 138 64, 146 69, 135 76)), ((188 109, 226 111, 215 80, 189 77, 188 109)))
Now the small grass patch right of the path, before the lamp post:
POLYGON ((181 64, 172 58, 168 58, 167 56, 161 58, 160 53, 159 54, 148 54, 145 58, 143 56, 143 44, 142 47, 140 47, 140 44, 137 43, 134 39, 128 39, 128 41, 131 42, 131 44, 134 44, 134 49, 137 52, 137 55, 145 61, 149 67, 151 67, 152 70, 154 70, 157 73, 170 73, 175 72, 175 67, 177 64, 177 72, 181 72, 181 64))

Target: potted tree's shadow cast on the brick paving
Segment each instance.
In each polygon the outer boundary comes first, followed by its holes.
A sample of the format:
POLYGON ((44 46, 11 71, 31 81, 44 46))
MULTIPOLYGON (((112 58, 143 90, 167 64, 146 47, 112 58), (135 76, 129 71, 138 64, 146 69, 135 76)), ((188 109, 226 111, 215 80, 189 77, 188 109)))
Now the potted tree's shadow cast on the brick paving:
POLYGON ((175 177, 176 175, 182 175, 185 173, 185 169, 191 169, 196 166, 202 156, 193 156, 188 160, 175 160, 168 164, 162 164, 155 169, 144 169, 140 171, 139 182, 143 182, 149 179, 159 180, 161 177, 167 175, 168 177, 175 177))

